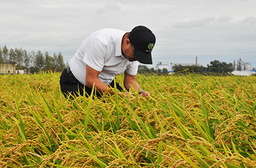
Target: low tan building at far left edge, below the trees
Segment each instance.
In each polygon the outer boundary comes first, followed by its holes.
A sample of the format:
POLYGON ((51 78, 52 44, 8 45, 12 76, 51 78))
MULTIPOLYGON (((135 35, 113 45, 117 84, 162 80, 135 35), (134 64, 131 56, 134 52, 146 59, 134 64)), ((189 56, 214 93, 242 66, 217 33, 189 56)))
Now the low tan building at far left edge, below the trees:
POLYGON ((1 59, 0 60, 0 74, 15 74, 16 62, 1 59))

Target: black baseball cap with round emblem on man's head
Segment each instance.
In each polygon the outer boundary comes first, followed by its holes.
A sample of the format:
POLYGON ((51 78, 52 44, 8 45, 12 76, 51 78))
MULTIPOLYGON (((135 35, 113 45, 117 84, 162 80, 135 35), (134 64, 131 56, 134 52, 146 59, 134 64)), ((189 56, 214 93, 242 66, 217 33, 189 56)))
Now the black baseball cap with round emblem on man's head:
POLYGON ((134 47, 134 55, 142 64, 152 64, 152 49, 156 43, 156 37, 143 25, 134 27, 129 34, 129 39, 134 47))

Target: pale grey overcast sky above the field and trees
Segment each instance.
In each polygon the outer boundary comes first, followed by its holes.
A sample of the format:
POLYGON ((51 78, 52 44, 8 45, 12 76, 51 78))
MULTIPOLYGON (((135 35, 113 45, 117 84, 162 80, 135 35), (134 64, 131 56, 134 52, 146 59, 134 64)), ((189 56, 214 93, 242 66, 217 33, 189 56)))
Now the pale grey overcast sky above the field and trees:
POLYGON ((1 0, 0 46, 61 52, 65 62, 101 28, 156 35, 153 65, 241 58, 256 67, 256 0, 1 0))

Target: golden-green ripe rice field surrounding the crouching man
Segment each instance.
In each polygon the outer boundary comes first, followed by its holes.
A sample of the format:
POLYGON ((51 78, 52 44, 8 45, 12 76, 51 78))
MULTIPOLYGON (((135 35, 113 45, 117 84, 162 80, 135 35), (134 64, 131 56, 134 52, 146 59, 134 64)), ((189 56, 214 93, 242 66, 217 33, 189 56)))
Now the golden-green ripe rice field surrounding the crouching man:
POLYGON ((74 101, 59 78, 0 76, 0 167, 256 167, 256 76, 138 75, 152 97, 74 101))

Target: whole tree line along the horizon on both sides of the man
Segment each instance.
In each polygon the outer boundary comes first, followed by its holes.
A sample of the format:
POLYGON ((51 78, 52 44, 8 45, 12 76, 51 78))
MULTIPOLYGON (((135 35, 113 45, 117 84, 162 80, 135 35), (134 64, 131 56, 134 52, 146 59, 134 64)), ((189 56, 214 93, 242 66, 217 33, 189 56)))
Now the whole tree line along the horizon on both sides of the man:
MULTIPOLYGON (((61 72, 65 69, 66 65, 63 60, 63 55, 61 52, 49 55, 49 52, 42 53, 40 50, 37 52, 27 52, 22 50, 22 48, 11 48, 10 50, 4 46, 0 46, 0 63, 6 62, 15 62, 17 70, 26 70, 30 73, 38 73, 40 71, 52 71, 52 72, 61 72)), ((213 60, 210 64, 207 64, 207 67, 204 66, 182 66, 174 65, 172 67, 173 72, 181 73, 218 73, 225 74, 231 73, 234 68, 233 64, 226 62, 220 62, 219 60, 213 60)), ((138 73, 157 73, 157 74, 168 74, 168 69, 154 69, 148 68, 147 66, 139 66, 138 73)))

